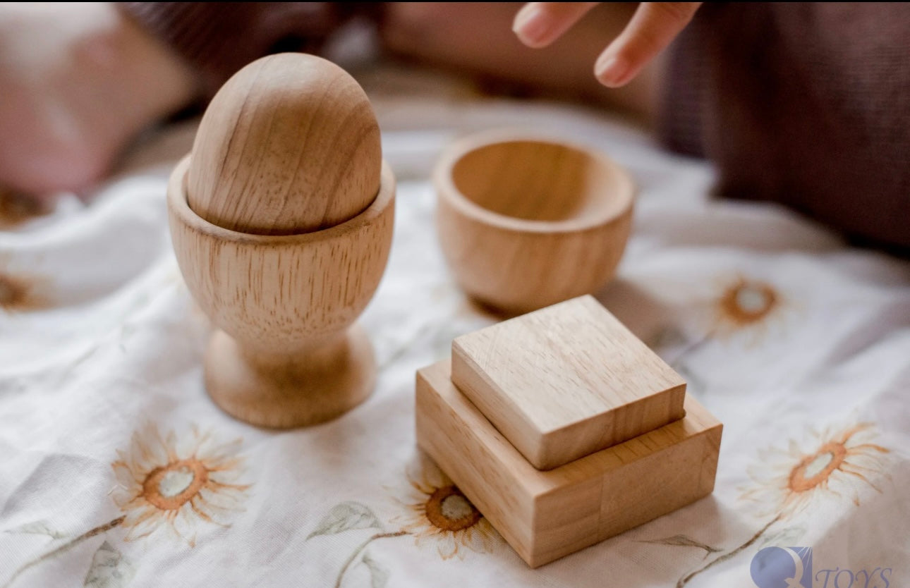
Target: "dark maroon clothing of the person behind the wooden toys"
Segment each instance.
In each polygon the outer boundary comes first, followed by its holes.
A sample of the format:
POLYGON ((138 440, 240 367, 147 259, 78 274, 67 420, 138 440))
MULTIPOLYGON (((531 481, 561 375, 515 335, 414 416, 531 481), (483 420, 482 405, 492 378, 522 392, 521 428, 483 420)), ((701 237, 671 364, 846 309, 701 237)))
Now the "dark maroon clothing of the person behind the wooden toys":
MULTIPOLYGON (((214 92, 261 55, 317 51, 333 3, 126 3, 214 92)), ((786 204, 910 253, 910 7, 703 5, 673 47, 661 135, 706 156, 718 193, 786 204)))

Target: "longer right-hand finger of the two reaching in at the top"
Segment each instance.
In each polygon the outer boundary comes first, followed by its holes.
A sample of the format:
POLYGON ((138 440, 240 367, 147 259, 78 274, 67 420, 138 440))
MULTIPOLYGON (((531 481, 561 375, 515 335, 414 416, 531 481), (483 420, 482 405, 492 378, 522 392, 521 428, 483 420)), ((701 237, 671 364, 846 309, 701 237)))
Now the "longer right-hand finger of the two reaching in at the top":
POLYGON ((602 85, 626 85, 656 55, 670 45, 692 20, 700 2, 642 2, 622 33, 594 64, 602 85))

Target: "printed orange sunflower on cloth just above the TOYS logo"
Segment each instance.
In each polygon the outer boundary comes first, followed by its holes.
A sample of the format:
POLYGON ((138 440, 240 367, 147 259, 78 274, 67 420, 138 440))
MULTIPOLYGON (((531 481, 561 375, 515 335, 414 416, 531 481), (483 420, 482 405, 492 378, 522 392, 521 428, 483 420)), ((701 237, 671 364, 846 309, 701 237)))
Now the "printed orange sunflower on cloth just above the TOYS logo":
POLYGON ((759 515, 789 518, 819 499, 849 497, 857 506, 861 493, 887 477, 890 450, 875 441, 872 424, 855 424, 843 430, 813 433, 805 451, 791 441, 787 449, 759 453, 759 463, 749 470, 755 485, 742 499, 757 503, 759 515))

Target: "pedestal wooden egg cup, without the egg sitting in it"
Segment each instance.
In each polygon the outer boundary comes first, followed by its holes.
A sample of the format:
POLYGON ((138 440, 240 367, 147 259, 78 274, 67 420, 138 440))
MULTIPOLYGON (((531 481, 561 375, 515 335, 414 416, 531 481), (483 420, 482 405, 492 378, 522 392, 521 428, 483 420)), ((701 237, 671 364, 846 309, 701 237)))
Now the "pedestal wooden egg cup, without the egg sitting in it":
POLYGON ((395 178, 349 221, 306 234, 230 231, 187 204, 188 157, 171 176, 168 218, 177 264, 217 330, 205 383, 227 414, 289 428, 344 414, 372 393, 376 364, 354 324, 385 270, 395 178))

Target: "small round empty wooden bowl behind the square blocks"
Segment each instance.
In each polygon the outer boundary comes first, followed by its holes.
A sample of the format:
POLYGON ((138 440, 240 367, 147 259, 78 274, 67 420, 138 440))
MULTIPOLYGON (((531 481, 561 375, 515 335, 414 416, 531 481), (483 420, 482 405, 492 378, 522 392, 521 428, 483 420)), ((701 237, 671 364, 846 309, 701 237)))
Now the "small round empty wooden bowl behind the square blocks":
POLYGON ((596 292, 629 238, 632 178, 577 145, 472 135, 441 154, 433 183, 442 253, 456 280, 504 314, 596 292))

